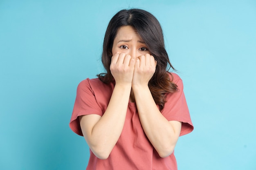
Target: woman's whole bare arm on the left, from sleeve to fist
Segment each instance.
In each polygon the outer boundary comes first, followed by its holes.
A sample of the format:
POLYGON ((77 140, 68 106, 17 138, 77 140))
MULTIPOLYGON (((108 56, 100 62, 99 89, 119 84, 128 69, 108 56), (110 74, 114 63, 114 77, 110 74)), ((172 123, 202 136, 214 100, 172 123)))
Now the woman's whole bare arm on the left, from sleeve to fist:
POLYGON ((83 136, 99 159, 108 158, 124 127, 134 64, 130 55, 114 55, 110 70, 116 84, 105 113, 79 117, 83 136))

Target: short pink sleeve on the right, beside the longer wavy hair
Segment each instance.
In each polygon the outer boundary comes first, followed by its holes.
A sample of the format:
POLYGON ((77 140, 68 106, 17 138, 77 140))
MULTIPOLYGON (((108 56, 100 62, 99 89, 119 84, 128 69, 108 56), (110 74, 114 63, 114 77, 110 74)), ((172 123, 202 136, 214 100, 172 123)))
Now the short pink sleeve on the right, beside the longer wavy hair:
POLYGON ((167 95, 162 114, 168 121, 175 120, 182 122, 182 128, 180 132, 180 136, 182 136, 192 132, 194 127, 183 92, 182 79, 180 79, 180 77, 174 73, 172 73, 172 75, 174 77, 173 82, 178 86, 178 91, 167 95))

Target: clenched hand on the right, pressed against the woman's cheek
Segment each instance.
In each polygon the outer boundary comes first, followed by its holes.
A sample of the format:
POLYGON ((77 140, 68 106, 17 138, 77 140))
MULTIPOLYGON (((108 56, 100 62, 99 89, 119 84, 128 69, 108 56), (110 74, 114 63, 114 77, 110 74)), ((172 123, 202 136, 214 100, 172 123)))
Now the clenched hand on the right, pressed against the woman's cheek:
POLYGON ((157 63, 153 55, 146 54, 136 58, 135 68, 132 78, 132 87, 148 86, 148 82, 155 73, 157 63))

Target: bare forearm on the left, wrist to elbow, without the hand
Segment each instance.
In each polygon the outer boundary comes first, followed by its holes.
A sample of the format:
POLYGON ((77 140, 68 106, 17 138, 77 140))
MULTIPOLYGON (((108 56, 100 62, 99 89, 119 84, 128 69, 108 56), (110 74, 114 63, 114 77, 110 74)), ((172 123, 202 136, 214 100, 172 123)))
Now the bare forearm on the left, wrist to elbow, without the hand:
MULTIPOLYGON (((92 152, 106 159, 124 127, 131 86, 116 85, 103 116, 87 129, 85 139, 92 152)), ((89 119, 92 121, 92 119, 89 119)), ((85 122, 86 123, 86 122, 85 122)))

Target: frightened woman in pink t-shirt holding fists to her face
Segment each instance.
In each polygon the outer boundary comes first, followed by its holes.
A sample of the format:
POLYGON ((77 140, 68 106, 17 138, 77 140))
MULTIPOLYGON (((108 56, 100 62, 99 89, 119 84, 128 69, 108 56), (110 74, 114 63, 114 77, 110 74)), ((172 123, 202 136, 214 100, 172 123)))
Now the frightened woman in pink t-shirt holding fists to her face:
POLYGON ((177 170, 173 150, 193 124, 182 80, 168 72, 157 19, 141 9, 119 11, 106 30, 102 63, 106 73, 79 84, 70 121, 90 147, 87 170, 177 170))

